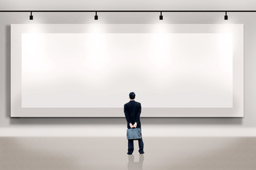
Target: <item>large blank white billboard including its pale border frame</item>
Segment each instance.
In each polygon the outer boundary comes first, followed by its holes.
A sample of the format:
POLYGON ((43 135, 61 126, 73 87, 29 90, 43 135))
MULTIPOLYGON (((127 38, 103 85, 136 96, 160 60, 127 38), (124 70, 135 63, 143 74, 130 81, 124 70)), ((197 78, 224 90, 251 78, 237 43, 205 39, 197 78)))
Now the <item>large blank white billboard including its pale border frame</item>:
POLYGON ((101 25, 12 25, 14 117, 243 115, 242 25, 101 25))

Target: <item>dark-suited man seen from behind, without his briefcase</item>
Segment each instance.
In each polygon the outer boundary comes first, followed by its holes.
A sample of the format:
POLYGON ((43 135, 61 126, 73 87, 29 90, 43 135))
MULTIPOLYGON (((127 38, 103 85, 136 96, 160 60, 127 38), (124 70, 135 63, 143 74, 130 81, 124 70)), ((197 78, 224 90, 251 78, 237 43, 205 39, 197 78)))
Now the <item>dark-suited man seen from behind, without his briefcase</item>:
MULTIPOLYGON (((127 128, 141 128, 141 122, 139 120, 139 116, 142 112, 141 103, 134 101, 135 94, 131 92, 129 94, 130 101, 124 104, 124 115, 127 120, 127 128)), ((139 154, 144 154, 143 148, 144 143, 142 139, 138 140, 139 142, 139 154)), ((128 152, 127 154, 132 154, 134 151, 134 142, 133 140, 128 140, 128 152)))

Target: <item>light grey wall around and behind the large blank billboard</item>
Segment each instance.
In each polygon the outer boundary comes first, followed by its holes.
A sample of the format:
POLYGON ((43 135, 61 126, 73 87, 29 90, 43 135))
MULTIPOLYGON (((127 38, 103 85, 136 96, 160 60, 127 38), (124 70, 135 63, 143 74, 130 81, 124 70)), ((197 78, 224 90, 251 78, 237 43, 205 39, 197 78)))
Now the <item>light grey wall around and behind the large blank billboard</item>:
MULTIPOLYGON (((0 10, 253 10, 254 1, 14 1, 1 0, 0 10)), ((211 128, 221 132, 256 128, 256 13, 163 13, 164 23, 243 23, 245 25, 245 117, 244 118, 142 118, 145 128, 161 127, 165 130, 186 128, 211 128)), ((0 13, 0 127, 1 128, 44 128, 79 127, 88 130, 97 125, 107 128, 125 128, 124 118, 10 118, 11 91, 11 23, 159 23, 159 13, 98 13, 99 21, 94 21, 94 13, 0 13)), ((157 100, 157 98, 154 98, 157 100)), ((143 103, 143 101, 141 101, 143 103)), ((142 108, 143 114, 143 108, 142 108)), ((106 131, 107 132, 107 131, 106 131)), ((194 131, 196 132, 196 131, 194 131)))

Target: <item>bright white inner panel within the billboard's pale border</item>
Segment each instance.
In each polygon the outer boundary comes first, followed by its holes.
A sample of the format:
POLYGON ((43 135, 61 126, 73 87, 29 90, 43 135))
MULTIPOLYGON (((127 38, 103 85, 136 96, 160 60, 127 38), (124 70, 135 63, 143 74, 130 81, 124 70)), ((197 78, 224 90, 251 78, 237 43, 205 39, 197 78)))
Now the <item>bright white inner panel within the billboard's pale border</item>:
POLYGON ((23 108, 232 108, 230 33, 24 33, 23 108))

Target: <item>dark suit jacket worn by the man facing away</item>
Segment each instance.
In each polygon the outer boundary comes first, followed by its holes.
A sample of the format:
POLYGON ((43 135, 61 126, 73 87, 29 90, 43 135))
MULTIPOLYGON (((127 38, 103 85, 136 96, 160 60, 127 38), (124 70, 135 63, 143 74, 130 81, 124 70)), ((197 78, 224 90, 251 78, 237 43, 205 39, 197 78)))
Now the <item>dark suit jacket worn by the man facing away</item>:
POLYGON ((137 101, 129 101, 124 104, 124 115, 127 120, 127 128, 129 127, 129 123, 137 123, 137 128, 141 128, 141 122, 139 120, 139 116, 142 112, 142 105, 137 101))

